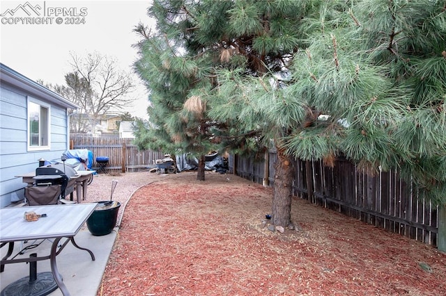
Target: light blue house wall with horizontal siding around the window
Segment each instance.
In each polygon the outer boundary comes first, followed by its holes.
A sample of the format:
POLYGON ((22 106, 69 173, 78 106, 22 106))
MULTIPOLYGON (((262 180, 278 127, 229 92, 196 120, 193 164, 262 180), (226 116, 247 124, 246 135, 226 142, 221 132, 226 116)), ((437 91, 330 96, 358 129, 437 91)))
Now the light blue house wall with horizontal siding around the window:
POLYGON ((77 106, 13 69, 0 65, 0 208, 3 208, 24 198, 26 184, 15 176, 35 171, 40 158, 60 158, 68 149, 67 109, 77 106), (49 105, 49 149, 28 151, 28 97, 49 105))

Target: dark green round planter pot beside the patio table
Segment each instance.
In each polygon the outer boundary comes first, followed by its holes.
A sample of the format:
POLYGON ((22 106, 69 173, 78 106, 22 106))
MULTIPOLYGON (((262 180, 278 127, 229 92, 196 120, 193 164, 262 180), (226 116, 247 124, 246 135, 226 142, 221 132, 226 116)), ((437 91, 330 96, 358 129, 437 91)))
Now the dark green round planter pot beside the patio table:
POLYGON ((105 236, 112 232, 120 206, 119 202, 98 202, 95 211, 86 220, 86 226, 93 236, 105 236))

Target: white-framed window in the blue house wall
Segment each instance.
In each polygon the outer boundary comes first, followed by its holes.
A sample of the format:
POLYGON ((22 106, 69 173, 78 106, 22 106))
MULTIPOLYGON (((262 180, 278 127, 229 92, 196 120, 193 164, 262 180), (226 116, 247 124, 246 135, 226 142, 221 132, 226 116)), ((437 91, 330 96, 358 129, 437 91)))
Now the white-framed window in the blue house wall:
POLYGON ((28 150, 49 149, 49 105, 28 98, 28 150))

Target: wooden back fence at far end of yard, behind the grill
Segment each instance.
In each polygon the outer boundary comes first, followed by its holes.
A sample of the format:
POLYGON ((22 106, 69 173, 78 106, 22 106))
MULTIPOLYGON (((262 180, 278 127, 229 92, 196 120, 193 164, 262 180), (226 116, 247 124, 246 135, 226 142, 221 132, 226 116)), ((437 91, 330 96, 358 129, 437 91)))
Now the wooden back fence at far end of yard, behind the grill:
POLYGON ((132 144, 131 138, 118 138, 118 136, 93 137, 84 134, 70 135, 70 149, 88 149, 93 152, 93 170, 98 170, 96 157, 107 156, 108 170, 121 170, 134 172, 155 167, 154 161, 164 158, 161 151, 138 151, 132 144))

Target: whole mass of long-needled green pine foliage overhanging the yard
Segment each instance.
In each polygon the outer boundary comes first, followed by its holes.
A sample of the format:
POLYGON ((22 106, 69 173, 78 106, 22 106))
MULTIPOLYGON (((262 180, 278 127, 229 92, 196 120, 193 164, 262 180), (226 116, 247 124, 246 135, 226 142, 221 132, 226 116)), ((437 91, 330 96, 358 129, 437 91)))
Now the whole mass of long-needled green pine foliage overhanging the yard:
POLYGON ((144 145, 256 154, 273 140, 305 160, 397 169, 446 203, 444 1, 163 0, 150 11, 158 31, 135 63, 151 90, 144 145))

